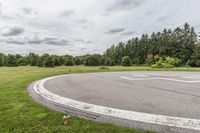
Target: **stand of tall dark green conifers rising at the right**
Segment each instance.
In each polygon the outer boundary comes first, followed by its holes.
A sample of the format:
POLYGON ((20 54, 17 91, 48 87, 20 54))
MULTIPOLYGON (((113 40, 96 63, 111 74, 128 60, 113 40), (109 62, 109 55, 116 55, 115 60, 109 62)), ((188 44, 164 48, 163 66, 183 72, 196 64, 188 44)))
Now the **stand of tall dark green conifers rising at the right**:
POLYGON ((120 65, 125 56, 133 64, 154 64, 171 57, 181 64, 197 67, 200 66, 200 42, 194 28, 185 23, 173 31, 164 29, 162 32, 132 38, 127 43, 120 42, 104 53, 104 57, 116 65, 120 65))

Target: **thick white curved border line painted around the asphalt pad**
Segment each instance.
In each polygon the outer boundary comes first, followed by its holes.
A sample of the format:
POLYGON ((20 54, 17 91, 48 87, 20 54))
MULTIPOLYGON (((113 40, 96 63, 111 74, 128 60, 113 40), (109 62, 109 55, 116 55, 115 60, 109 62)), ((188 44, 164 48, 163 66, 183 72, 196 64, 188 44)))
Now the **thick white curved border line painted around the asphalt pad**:
POLYGON ((171 116, 165 116, 165 115, 156 115, 156 114, 148 114, 148 113, 134 112, 134 111, 128 111, 128 110, 121 110, 121 109, 115 109, 115 108, 110 108, 110 107, 105 107, 105 106, 84 103, 84 102, 72 100, 66 97, 61 97, 52 92, 49 92, 44 87, 44 83, 47 80, 50 80, 56 77, 61 77, 61 76, 50 77, 50 78, 37 81, 34 84, 35 92, 38 95, 50 101, 60 103, 68 107, 76 108, 83 111, 88 111, 92 113, 97 113, 97 114, 102 114, 102 115, 107 115, 107 116, 112 116, 112 117, 117 117, 121 119, 132 120, 132 121, 144 122, 144 123, 152 123, 152 124, 158 124, 158 125, 200 130, 200 120, 198 119, 171 117, 171 116))

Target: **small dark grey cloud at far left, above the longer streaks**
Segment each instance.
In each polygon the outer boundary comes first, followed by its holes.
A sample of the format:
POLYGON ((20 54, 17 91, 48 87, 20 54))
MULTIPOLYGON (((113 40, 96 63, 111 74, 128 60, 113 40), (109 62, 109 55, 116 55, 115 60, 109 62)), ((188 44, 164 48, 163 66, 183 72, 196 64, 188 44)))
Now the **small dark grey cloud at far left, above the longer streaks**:
POLYGON ((1 35, 2 36, 17 36, 24 33, 25 30, 22 27, 4 27, 2 29, 1 35))

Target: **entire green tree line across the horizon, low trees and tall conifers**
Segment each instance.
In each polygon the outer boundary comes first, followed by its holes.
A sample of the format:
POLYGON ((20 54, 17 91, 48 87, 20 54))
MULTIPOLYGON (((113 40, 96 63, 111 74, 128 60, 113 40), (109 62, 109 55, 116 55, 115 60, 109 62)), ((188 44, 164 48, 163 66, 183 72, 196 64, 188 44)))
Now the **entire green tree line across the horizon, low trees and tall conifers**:
POLYGON ((87 54, 73 57, 35 53, 26 56, 0 53, 0 66, 131 66, 132 64, 162 64, 162 62, 174 66, 200 67, 200 42, 194 28, 188 23, 173 31, 164 29, 162 32, 132 38, 126 43, 120 42, 108 48, 103 55, 87 54))

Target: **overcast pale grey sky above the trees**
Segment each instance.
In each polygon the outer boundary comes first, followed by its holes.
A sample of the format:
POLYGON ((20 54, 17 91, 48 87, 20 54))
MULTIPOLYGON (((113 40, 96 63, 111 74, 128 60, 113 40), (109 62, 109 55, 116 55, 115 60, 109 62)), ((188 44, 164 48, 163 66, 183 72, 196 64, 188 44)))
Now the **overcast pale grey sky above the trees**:
POLYGON ((0 0, 0 52, 102 53, 120 41, 190 23, 199 0, 0 0))

